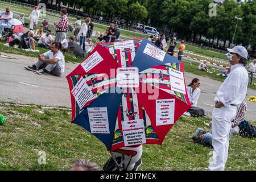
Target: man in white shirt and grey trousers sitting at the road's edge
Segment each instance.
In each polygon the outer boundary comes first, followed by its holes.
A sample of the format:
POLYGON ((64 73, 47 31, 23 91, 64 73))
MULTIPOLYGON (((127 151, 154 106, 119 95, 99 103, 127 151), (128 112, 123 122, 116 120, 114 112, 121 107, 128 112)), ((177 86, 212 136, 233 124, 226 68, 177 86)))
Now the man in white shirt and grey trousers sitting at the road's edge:
POLYGON ((60 52, 61 43, 53 42, 51 51, 38 56, 38 61, 32 65, 25 67, 29 71, 35 71, 39 75, 49 73, 54 76, 61 76, 65 70, 65 59, 63 53, 60 52))

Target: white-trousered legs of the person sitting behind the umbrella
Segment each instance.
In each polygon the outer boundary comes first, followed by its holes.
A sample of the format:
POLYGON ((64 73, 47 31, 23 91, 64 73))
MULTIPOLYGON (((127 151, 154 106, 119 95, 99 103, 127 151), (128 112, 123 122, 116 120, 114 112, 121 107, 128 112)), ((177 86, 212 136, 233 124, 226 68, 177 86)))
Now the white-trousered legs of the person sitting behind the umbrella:
MULTIPOLYGON (((132 150, 132 151, 137 151, 137 154, 134 155, 131 159, 126 160, 129 156, 125 155, 125 168, 127 169, 127 171, 131 171, 134 168, 135 163, 141 159, 142 156, 142 144, 138 147, 122 147, 120 148, 122 150, 132 150)), ((118 152, 113 152, 114 155, 117 156, 122 156, 121 153, 118 152)))

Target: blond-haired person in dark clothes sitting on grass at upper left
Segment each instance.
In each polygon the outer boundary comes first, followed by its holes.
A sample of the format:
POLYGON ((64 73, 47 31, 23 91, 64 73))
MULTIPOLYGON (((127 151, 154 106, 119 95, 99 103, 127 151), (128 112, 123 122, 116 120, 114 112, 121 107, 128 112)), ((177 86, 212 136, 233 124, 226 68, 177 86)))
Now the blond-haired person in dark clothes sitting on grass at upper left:
POLYGON ((10 42, 10 47, 14 47, 15 45, 18 45, 19 48, 35 50, 34 32, 32 30, 28 31, 26 38, 22 38, 21 40, 14 39, 10 42))

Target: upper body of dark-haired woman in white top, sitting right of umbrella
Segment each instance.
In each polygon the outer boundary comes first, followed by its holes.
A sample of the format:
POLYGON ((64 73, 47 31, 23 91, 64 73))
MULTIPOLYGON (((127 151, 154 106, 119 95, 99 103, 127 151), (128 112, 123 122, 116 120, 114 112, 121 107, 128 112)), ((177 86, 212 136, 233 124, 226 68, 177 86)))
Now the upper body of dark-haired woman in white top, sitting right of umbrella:
POLYGON ((193 107, 196 107, 197 100, 201 93, 199 86, 200 86, 199 78, 193 78, 191 84, 189 84, 187 86, 188 98, 189 98, 191 106, 193 106, 193 107))

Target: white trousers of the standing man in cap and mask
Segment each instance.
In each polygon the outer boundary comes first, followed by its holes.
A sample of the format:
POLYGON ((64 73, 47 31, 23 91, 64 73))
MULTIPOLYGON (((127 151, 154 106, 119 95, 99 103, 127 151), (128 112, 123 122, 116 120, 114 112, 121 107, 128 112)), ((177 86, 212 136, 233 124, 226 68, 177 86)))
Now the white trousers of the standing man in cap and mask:
POLYGON ((210 171, 224 171, 229 150, 229 133, 231 121, 236 117, 237 107, 214 108, 212 113, 212 146, 213 161, 210 162, 210 171))

